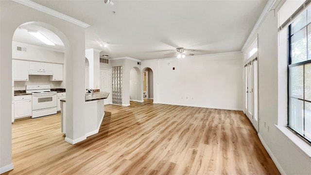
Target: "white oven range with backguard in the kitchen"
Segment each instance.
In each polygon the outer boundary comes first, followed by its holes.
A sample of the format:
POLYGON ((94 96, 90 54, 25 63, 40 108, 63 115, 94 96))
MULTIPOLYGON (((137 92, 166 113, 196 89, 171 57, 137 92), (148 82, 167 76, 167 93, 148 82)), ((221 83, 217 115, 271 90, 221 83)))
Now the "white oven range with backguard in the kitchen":
POLYGON ((28 85, 26 93, 32 93, 32 118, 57 113, 57 92, 51 91, 50 85, 28 85))

